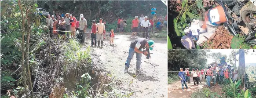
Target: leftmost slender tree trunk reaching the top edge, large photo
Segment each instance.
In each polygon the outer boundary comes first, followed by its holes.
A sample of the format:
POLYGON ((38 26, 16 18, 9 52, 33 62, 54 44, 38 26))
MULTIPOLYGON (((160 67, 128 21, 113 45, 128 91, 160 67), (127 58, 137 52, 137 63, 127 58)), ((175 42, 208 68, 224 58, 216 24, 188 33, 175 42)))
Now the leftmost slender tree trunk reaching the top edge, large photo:
MULTIPOLYGON (((26 94, 26 96, 27 96, 27 95, 28 95, 28 91, 27 91, 27 83, 26 83, 26 75, 25 75, 25 66, 24 66, 25 18, 23 17, 23 11, 22 11, 22 7, 21 7, 20 0, 18 0, 18 6, 19 6, 19 9, 21 10, 21 14, 22 14, 22 78, 23 78, 23 84, 24 84, 25 94, 26 94)), ((29 98, 29 96, 27 96, 26 98, 29 98)))

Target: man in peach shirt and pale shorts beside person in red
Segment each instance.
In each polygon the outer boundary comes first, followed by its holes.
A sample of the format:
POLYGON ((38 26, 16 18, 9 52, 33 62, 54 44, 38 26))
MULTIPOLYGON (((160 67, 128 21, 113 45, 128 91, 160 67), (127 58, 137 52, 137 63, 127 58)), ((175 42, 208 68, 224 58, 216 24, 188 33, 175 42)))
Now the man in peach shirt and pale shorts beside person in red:
POLYGON ((105 29, 105 24, 102 23, 102 18, 99 19, 99 23, 97 23, 97 29, 98 32, 96 33, 96 39, 98 40, 98 47, 99 47, 99 43, 101 41, 101 47, 103 46, 103 34, 106 33, 106 29, 105 29))

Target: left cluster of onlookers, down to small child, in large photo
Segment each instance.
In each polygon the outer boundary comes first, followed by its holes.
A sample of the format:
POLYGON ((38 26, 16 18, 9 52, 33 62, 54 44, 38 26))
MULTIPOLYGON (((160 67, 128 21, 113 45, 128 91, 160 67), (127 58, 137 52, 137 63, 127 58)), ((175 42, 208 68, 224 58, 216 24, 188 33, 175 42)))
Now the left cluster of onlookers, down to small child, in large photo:
MULTIPOLYGON (((101 47, 103 46, 103 38, 106 36, 106 21, 102 22, 103 19, 99 19, 99 23, 96 24, 96 20, 92 21, 91 25, 91 45, 98 47, 101 43, 101 47)), ((79 21, 75 16, 72 16, 69 13, 65 14, 65 18, 61 17, 57 14, 57 18, 55 19, 54 15, 48 15, 46 19, 46 23, 50 29, 50 36, 53 35, 61 35, 63 39, 66 40, 66 34, 69 37, 69 33, 71 33, 71 38, 75 38, 76 33, 77 38, 81 39, 81 43, 84 43, 87 29, 87 20, 84 18, 83 14, 80 14, 79 21)), ((110 31, 110 43, 113 44, 114 33, 113 29, 110 31)), ((111 45, 112 45, 111 44, 111 45)))

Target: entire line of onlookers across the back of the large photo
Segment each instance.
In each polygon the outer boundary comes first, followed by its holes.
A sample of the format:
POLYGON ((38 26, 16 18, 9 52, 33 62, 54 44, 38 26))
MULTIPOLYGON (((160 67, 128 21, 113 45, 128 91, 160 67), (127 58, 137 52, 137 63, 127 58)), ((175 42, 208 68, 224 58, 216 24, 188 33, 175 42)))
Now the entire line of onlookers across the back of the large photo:
MULTIPOLYGON (((151 9, 151 17, 141 15, 140 18, 135 16, 135 19, 132 20, 132 37, 136 38, 137 33, 142 33, 143 38, 148 39, 148 31, 154 31, 154 24, 157 30, 161 30, 164 26, 167 26, 167 15, 165 19, 161 15, 156 14, 157 9, 153 7, 151 9), (163 25, 164 24, 164 25, 163 25)), ((63 39, 66 40, 69 38, 69 33, 71 33, 71 38, 81 39, 81 43, 85 41, 86 29, 88 27, 87 20, 84 18, 83 14, 80 14, 79 20, 72 14, 66 13, 65 15, 53 11, 53 15, 48 15, 46 19, 47 26, 50 30, 50 36, 60 35, 63 36, 63 39), (67 38, 66 38, 67 35, 67 38)), ((126 27, 126 20, 122 17, 119 17, 117 20, 117 30, 116 32, 123 33, 124 27, 126 27)), ((106 38, 106 21, 102 18, 99 19, 99 22, 96 23, 96 20, 92 21, 91 25, 91 45, 96 47, 103 46, 103 39, 106 38)), ((114 29, 109 28, 110 30, 110 45, 113 45, 114 41, 114 29)))

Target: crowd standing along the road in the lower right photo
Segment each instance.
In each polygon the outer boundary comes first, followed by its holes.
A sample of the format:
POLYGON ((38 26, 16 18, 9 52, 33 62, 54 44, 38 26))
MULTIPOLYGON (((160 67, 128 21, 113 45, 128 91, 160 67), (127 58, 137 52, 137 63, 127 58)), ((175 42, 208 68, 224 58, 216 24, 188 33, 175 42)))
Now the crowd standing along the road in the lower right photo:
POLYGON ((182 90, 184 90, 184 85, 186 88, 187 83, 190 83, 190 77, 193 77, 194 86, 198 86, 201 83, 201 80, 206 81, 207 87, 212 87, 216 84, 222 84, 225 79, 231 78, 233 82, 238 78, 238 70, 231 69, 231 65, 227 65, 227 62, 224 64, 218 64, 217 62, 213 62, 208 68, 199 69, 199 68, 180 68, 180 72, 178 74, 181 83, 182 90), (213 85, 211 86, 210 82, 213 80, 213 85))

